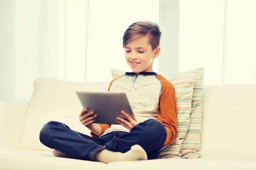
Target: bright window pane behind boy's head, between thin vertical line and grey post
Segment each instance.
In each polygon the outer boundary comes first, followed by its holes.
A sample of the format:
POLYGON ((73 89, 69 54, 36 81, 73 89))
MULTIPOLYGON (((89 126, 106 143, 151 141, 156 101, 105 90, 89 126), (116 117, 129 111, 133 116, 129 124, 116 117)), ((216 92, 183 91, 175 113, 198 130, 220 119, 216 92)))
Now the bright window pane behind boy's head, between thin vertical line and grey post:
MULTIPOLYGON (((111 69, 131 71, 125 61, 122 37, 132 23, 158 23, 158 0, 91 0, 89 14, 87 82, 111 81, 111 69)), ((153 71, 158 71, 154 61, 153 71)))

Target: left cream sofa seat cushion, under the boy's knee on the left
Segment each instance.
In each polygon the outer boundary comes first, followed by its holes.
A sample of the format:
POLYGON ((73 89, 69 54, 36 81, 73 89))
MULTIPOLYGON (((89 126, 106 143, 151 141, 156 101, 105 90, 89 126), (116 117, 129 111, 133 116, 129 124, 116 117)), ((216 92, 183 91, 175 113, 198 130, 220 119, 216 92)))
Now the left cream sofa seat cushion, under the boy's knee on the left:
POLYGON ((51 151, 0 150, 0 170, 104 170, 102 162, 53 156, 51 151))

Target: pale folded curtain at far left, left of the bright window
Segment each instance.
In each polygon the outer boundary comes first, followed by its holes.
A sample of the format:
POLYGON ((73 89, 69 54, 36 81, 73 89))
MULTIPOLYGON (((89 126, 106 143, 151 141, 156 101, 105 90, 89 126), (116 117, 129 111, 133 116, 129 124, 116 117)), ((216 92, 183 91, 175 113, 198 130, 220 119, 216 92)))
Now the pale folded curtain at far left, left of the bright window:
POLYGON ((56 78, 58 0, 0 1, 0 101, 29 101, 33 81, 56 78))

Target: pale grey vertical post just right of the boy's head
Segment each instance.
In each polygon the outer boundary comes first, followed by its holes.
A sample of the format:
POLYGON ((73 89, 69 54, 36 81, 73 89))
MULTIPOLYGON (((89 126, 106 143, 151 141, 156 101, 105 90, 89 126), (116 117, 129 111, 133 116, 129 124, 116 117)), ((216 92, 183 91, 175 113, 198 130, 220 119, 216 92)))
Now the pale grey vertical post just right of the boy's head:
POLYGON ((162 36, 158 73, 169 79, 179 73, 179 0, 159 0, 159 9, 162 36))

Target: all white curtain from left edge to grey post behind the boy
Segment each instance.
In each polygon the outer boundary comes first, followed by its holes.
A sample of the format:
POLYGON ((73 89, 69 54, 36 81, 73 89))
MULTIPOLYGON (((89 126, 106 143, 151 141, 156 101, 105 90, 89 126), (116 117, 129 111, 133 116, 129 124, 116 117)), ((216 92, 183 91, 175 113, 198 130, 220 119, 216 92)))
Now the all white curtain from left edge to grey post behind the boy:
POLYGON ((122 35, 136 21, 158 22, 159 11, 158 0, 1 0, 0 6, 0 101, 29 101, 38 77, 101 82, 111 81, 112 68, 130 71, 122 35))

